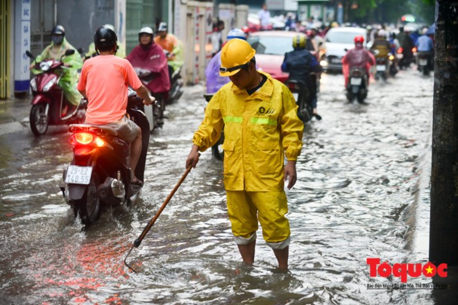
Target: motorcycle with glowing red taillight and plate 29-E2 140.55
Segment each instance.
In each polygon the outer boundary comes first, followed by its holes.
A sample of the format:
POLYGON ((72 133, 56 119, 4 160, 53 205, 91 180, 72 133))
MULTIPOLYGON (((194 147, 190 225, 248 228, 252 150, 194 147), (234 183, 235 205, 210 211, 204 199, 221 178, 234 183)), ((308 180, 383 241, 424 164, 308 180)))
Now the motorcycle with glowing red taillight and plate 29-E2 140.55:
MULTIPOLYGON (((127 113, 142 128, 142 153, 135 168, 139 180, 144 180, 149 143, 149 123, 143 108, 142 100, 129 88, 127 113)), ((90 225, 99 218, 102 207, 132 204, 142 186, 131 183, 129 144, 117 137, 116 130, 103 125, 71 124, 69 132, 74 157, 63 172, 67 188, 60 189, 74 216, 90 225)))

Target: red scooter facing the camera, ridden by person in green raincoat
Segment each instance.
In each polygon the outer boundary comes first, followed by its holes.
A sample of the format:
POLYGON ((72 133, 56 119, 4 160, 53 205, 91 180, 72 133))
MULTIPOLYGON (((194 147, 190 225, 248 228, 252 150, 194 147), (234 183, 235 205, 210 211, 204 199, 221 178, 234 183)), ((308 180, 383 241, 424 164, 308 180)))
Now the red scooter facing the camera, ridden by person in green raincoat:
MULTIPOLYGON (((46 133, 49 125, 67 125, 85 121, 87 103, 82 100, 78 107, 74 107, 67 101, 62 87, 58 85, 62 71, 68 69, 64 66, 62 58, 74 53, 75 50, 67 50, 60 60, 43 60, 34 66, 34 69, 40 73, 31 80, 33 99, 30 124, 33 134, 37 137, 46 133)), ((35 56, 29 51, 26 51, 26 55, 35 60, 35 56)))

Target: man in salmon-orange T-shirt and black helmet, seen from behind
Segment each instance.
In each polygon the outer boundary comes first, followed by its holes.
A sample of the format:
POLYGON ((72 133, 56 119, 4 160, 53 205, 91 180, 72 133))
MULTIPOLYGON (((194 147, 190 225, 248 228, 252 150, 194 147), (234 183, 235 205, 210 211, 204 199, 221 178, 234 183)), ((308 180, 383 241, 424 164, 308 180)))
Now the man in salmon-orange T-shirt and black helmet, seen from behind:
POLYGON ((94 34, 96 52, 99 56, 86 60, 78 81, 78 91, 87 98, 86 122, 108 125, 118 136, 130 143, 130 170, 133 184, 143 182, 135 177, 135 168, 142 152, 142 130, 126 116, 128 86, 135 89, 145 105, 151 105, 149 96, 137 74, 124 58, 114 56, 117 50, 117 35, 111 28, 102 26, 94 34))

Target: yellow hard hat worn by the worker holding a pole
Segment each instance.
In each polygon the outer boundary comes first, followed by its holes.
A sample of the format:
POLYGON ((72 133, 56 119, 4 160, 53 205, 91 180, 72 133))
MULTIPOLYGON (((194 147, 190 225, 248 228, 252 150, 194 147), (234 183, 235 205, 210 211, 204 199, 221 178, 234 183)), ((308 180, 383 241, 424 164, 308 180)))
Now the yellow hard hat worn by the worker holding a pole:
POLYGON ((248 42, 233 38, 226 42, 221 50, 221 67, 219 75, 232 76, 249 64, 256 51, 248 42))

